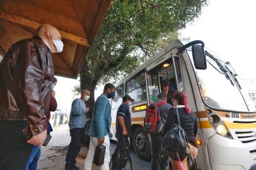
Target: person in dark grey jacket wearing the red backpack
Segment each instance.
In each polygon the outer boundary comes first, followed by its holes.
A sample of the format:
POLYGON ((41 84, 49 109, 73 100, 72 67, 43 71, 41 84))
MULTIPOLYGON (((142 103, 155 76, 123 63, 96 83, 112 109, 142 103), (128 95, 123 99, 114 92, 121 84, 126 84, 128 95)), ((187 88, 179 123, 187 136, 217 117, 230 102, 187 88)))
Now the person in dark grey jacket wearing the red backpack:
MULTIPOLYGON (((158 113, 158 122, 156 122, 156 130, 149 132, 149 139, 151 143, 151 169, 152 170, 168 170, 169 158, 165 154, 161 153, 161 139, 163 136, 163 126, 166 123, 168 111, 172 105, 166 103, 167 96, 165 93, 158 94, 156 103, 156 111, 158 113)), ((149 106, 150 109, 150 106, 149 106)), ((149 111, 149 110, 148 110, 149 111)), ((154 124, 154 123, 153 123, 154 124)))

